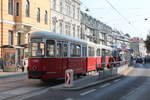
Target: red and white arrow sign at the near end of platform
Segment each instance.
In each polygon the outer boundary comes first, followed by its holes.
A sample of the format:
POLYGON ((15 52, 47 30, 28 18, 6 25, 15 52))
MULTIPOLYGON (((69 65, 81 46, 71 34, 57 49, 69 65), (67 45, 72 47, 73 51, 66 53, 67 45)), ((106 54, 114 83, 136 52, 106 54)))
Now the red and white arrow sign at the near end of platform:
POLYGON ((65 71, 65 87, 73 87, 73 70, 67 69, 65 71))

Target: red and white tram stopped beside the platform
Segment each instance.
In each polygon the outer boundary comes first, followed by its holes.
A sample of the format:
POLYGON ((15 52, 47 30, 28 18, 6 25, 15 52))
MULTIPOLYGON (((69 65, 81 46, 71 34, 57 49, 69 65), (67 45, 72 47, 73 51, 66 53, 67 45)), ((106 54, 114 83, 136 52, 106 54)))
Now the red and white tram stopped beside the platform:
POLYGON ((102 50, 108 48, 53 32, 39 31, 31 33, 29 49, 28 77, 48 80, 64 78, 66 69, 74 70, 76 75, 102 69, 102 50))

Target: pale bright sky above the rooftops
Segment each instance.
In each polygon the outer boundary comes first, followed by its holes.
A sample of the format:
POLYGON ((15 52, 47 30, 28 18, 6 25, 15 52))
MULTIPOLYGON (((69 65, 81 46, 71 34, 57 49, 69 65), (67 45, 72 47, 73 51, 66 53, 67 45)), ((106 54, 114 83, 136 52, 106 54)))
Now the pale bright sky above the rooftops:
POLYGON ((80 0, 81 10, 111 26, 146 39, 150 31, 150 0, 80 0), (113 6, 111 6, 108 2, 113 6), (114 9, 115 10, 114 10, 114 9), (148 20, 145 20, 147 18, 148 20))

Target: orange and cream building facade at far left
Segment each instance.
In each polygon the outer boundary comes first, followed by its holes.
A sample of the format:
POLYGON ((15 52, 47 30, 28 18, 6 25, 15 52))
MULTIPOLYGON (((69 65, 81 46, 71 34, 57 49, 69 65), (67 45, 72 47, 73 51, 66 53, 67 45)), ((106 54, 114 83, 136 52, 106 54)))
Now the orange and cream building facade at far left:
POLYGON ((17 64, 20 59, 27 57, 25 48, 30 33, 50 31, 50 5, 50 0, 0 0, 1 59, 11 57, 17 64))

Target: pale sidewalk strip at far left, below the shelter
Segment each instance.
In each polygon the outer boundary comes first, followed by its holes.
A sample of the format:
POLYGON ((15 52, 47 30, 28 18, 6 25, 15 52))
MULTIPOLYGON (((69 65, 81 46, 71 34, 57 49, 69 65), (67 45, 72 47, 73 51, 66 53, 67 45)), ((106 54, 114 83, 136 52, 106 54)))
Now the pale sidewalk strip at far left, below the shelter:
POLYGON ((17 72, 3 72, 0 70, 0 78, 9 78, 9 77, 14 77, 18 75, 25 75, 27 72, 22 72, 22 71, 17 71, 17 72))

